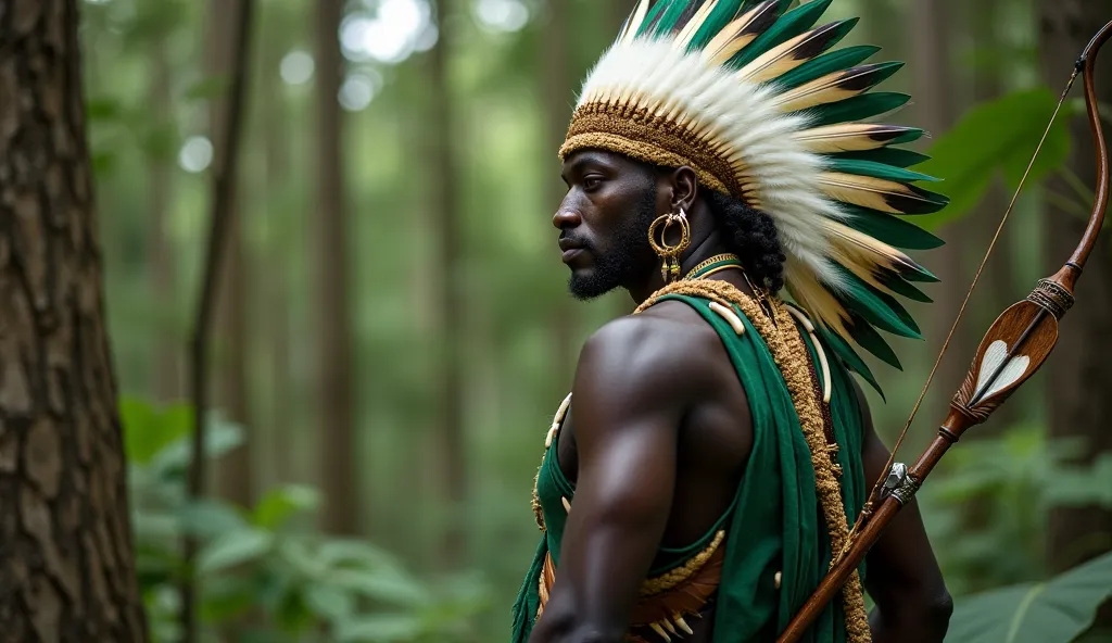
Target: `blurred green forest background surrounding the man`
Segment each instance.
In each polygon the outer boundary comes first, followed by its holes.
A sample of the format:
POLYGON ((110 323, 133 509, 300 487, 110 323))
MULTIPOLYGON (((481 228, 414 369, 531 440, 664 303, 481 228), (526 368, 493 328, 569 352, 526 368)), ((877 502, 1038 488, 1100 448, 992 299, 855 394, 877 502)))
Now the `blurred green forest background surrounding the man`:
MULTIPOLYGON (((108 577, 138 574, 152 640, 185 633, 183 578, 199 592, 200 640, 504 640, 539 535, 529 499, 552 414, 583 340, 632 308, 624 294, 574 301, 550 227, 564 191, 555 151, 578 82, 631 6, 0 2, 0 71, 18 65, 7 55, 20 29, 49 33, 52 20, 79 12, 85 96, 64 96, 83 101, 135 534, 129 560, 102 563, 123 570, 108 577), (229 121, 240 50, 242 111, 229 121), (190 342, 220 177, 230 209, 198 499, 187 493, 190 342), (185 536, 199 547, 193 564, 185 536)), ((929 289, 934 304, 912 308, 925 339, 896 342, 903 373, 870 363, 886 394, 870 392, 874 422, 892 444, 1074 59, 1112 9, 835 0, 824 19, 851 16, 862 20, 847 44, 909 62, 884 89, 914 98, 890 119, 932 132, 915 149, 934 157, 922 170, 944 178, 952 198, 917 221, 947 241, 916 255, 942 278, 929 289)), ((1105 118, 1108 79, 1098 76, 1105 118)), ((933 437, 987 325, 1080 238, 1095 170, 1081 93, 1072 96, 902 459, 933 437)), ((1046 368, 921 492, 956 597, 952 640, 1112 640, 1106 614, 1093 625, 1112 594, 1110 328, 1105 236, 1046 368)), ((11 386, 0 382, 4 413, 11 386)), ((31 434, 19 426, 3 439, 23 448, 31 434)), ((80 432, 60 426, 62 443, 80 432)), ((16 471, 2 465, 0 482, 16 471)), ((13 484, 0 484, 6 506, 22 506, 31 524, 13 484)), ((62 508, 43 506, 61 534, 62 508)), ((20 573, 52 573, 28 564, 20 573)), ((57 588, 64 584, 30 586, 49 600, 11 609, 50 640, 42 605, 54 601, 47 612, 64 622, 79 601, 57 588)))

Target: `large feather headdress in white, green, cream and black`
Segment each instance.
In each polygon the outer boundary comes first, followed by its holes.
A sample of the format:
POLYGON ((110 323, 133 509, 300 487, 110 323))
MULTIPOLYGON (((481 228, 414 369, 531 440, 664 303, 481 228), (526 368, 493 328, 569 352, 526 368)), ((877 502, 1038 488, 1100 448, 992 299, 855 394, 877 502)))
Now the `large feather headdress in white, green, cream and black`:
POLYGON ((942 241, 900 215, 946 199, 907 169, 926 157, 893 147, 922 130, 866 122, 907 101, 870 93, 901 63, 865 63, 875 47, 831 51, 856 19, 815 27, 830 3, 641 0, 588 75, 560 157, 596 148, 686 165, 767 212, 788 294, 877 386, 853 345, 898 368, 877 329, 920 337, 896 297, 930 301, 912 283, 937 280, 903 249, 942 241))

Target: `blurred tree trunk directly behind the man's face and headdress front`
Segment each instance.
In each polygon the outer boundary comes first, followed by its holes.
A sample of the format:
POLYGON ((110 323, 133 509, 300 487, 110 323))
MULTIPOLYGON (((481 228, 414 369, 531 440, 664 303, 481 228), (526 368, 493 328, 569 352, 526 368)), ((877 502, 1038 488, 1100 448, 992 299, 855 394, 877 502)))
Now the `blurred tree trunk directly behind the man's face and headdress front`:
MULTIPOLYGON (((544 148, 544 166, 553 169, 552 172, 545 172, 545 185, 549 186, 546 192, 546 205, 554 214, 564 199, 565 189, 559 180, 559 169, 553 159, 556 158, 556 151, 567 135, 568 122, 572 118, 570 106, 575 100, 575 90, 568 67, 570 60, 568 4, 567 2, 552 2, 548 6, 548 23, 545 24, 542 38, 538 39, 540 46, 538 57, 544 65, 542 95, 545 99, 548 120, 548 145, 544 148)), ((556 373, 553 374, 555 375, 554 379, 559 383, 558 386, 565 388, 570 386, 575 370, 576 354, 572 346, 576 326, 575 319, 574 300, 569 296, 562 297, 549 320, 549 334, 553 338, 553 349, 556 353, 556 359, 553 362, 556 368, 556 373)))

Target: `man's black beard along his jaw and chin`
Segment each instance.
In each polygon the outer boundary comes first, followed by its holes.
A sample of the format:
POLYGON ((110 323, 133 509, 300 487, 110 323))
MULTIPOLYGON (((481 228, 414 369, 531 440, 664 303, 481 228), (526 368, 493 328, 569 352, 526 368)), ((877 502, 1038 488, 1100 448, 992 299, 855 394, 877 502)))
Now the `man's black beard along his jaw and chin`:
POLYGON ((654 257, 648 228, 656 219, 655 190, 646 189, 629 215, 608 239, 607 253, 596 254, 594 248, 587 248, 594 258, 593 269, 587 274, 572 273, 567 287, 576 299, 605 295, 628 284, 638 270, 647 269, 654 257))

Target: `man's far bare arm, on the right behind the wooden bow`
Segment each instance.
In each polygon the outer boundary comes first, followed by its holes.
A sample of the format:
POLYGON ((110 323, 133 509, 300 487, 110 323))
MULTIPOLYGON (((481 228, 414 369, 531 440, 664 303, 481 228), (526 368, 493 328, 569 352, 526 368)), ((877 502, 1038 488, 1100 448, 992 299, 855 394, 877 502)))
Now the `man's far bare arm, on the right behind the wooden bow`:
MULTIPOLYGON (((865 484, 874 484, 888 462, 887 447, 873 429, 865 396, 857 389, 865 421, 862 455, 865 484)), ((871 489, 872 487, 870 487, 871 489)), ((865 588, 876 609, 870 615, 875 643, 941 643, 953 603, 913 499, 888 523, 866 558, 865 588)))

